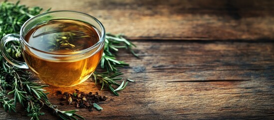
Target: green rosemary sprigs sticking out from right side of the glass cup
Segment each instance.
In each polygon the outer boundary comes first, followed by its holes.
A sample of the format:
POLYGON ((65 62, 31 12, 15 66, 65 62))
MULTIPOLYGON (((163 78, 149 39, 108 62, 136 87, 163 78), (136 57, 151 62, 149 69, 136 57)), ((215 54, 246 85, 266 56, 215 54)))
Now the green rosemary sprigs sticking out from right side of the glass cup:
POLYGON ((119 51, 119 48, 125 48, 128 49, 134 56, 138 57, 138 55, 132 49, 133 46, 136 47, 135 44, 125 39, 122 34, 115 35, 109 32, 106 33, 105 47, 101 58, 101 67, 106 69, 107 72, 94 72, 92 74, 95 84, 97 83, 97 80, 99 80, 99 83, 102 85, 101 90, 105 86, 106 88, 109 88, 113 94, 119 96, 117 91, 126 87, 128 81, 126 81, 125 84, 124 81, 122 81, 121 84, 116 82, 117 80, 123 79, 122 77, 116 77, 123 74, 119 72, 117 67, 124 67, 128 66, 129 64, 125 63, 124 61, 116 60, 115 56, 119 51), (113 74, 110 75, 111 73, 113 74), (113 85, 117 86, 118 88, 114 89, 113 85))

